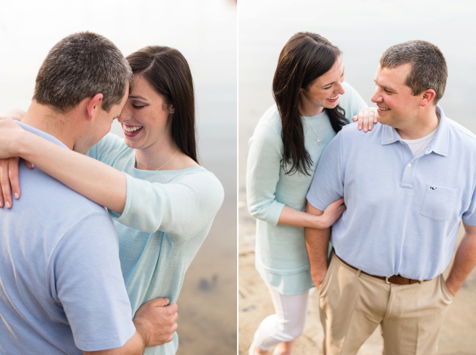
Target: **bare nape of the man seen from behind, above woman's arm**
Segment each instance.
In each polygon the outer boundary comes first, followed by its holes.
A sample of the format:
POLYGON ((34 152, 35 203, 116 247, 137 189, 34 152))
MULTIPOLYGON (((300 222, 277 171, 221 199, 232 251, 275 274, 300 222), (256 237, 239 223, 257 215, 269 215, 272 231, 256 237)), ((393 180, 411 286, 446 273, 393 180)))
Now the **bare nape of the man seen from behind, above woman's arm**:
POLYGON ((69 127, 74 121, 68 119, 68 114, 59 113, 49 106, 32 101, 21 122, 52 135, 69 149, 73 149, 75 140, 71 133, 76 131, 69 127))

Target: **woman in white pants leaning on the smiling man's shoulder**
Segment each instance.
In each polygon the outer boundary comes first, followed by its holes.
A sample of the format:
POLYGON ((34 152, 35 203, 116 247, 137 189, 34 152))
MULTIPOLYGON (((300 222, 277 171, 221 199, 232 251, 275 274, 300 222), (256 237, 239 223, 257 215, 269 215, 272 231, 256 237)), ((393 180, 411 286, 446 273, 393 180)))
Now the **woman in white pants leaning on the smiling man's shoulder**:
POLYGON ((306 192, 325 146, 367 107, 344 82, 340 54, 318 34, 293 35, 281 51, 273 78, 276 104, 259 120, 250 139, 246 186, 248 208, 257 219, 255 265, 276 312, 259 325, 250 355, 268 354, 277 344, 274 354, 293 353, 314 286, 304 228, 327 228, 345 209, 340 199, 322 216, 304 212, 306 192))

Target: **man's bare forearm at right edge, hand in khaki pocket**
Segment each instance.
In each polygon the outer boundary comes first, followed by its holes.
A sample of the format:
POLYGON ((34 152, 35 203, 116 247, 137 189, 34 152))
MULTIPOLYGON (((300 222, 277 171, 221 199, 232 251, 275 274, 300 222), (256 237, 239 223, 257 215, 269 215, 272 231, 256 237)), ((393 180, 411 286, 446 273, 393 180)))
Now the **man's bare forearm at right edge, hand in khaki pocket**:
POLYGON ((458 292, 476 264, 476 234, 473 229, 476 227, 465 226, 465 233, 456 251, 455 262, 446 279, 446 285, 453 295, 458 292), (468 231, 468 227, 471 227, 471 231, 468 231))

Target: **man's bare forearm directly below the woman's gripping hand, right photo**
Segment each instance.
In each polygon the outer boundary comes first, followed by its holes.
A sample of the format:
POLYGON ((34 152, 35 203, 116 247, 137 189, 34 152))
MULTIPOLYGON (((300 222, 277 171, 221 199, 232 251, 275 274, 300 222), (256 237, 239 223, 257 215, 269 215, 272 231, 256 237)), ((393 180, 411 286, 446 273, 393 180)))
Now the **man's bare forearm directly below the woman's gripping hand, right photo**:
POLYGON ((304 231, 312 281, 316 287, 319 287, 327 272, 327 251, 331 229, 306 228, 304 231))

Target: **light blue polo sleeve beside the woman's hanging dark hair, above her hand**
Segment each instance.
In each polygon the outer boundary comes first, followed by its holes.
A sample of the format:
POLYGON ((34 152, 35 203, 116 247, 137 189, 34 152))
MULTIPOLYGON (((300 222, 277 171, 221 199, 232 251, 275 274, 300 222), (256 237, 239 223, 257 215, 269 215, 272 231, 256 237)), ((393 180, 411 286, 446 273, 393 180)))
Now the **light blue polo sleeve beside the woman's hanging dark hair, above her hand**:
POLYGON ((324 149, 306 195, 307 201, 321 211, 344 196, 344 174, 340 160, 341 133, 342 131, 324 149))

